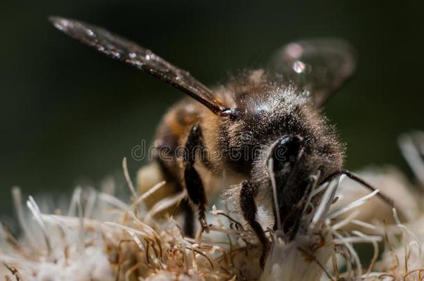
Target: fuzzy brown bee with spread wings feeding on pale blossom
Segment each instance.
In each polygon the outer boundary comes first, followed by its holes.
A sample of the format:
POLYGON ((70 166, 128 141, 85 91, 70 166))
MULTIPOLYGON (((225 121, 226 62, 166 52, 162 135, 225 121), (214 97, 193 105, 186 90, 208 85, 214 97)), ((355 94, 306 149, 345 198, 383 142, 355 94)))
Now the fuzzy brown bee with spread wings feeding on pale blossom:
MULTIPOLYGON (((345 148, 321 113, 325 101, 354 72, 354 51, 343 40, 292 42, 277 51, 268 67, 242 71, 211 90, 187 71, 104 28, 59 17, 50 20, 83 44, 190 96, 163 117, 154 166, 148 171, 167 180, 170 189, 185 190, 204 230, 206 198, 220 193, 216 186, 225 172, 227 196, 262 245, 261 266, 270 242, 258 220, 259 205, 272 214, 273 230, 293 237, 298 204, 309 194, 313 175, 319 175, 319 185, 344 174, 375 189, 343 169, 345 148)), ((390 198, 380 197, 393 205, 390 198)), ((186 235, 192 235, 190 210, 186 221, 186 235)))

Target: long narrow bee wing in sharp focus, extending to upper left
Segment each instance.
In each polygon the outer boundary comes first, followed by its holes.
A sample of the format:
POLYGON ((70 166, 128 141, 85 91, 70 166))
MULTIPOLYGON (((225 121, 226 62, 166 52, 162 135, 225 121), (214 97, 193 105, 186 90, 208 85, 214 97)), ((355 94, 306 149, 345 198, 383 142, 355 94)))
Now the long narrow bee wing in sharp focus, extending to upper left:
POLYGON ((187 71, 171 65, 152 51, 98 26, 60 17, 50 17, 49 20, 58 30, 70 37, 106 56, 137 67, 165 81, 204 104, 215 114, 220 116, 229 114, 229 108, 217 101, 208 87, 193 78, 187 71))

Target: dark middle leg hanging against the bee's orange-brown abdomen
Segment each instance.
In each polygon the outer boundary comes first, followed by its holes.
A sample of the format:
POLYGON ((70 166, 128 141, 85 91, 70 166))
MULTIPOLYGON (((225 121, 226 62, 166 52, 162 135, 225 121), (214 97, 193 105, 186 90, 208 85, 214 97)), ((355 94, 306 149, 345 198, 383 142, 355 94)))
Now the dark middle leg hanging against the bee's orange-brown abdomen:
POLYGON ((197 206, 199 210, 198 219, 203 230, 208 230, 206 223, 206 193, 202 179, 197 173, 194 164, 196 160, 197 150, 203 153, 202 131, 198 124, 194 125, 186 142, 184 151, 184 183, 190 201, 197 206))

